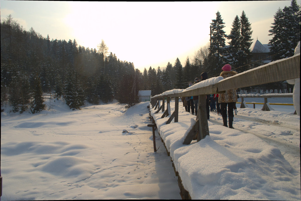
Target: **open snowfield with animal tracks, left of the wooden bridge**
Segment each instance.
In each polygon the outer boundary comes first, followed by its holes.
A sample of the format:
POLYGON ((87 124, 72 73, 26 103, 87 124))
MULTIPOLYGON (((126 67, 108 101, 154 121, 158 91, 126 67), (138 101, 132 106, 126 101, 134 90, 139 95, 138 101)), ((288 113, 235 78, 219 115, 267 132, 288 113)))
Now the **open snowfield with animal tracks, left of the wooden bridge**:
POLYGON ((154 153, 147 105, 134 108, 2 114, 1 200, 181 199, 159 137, 154 153))

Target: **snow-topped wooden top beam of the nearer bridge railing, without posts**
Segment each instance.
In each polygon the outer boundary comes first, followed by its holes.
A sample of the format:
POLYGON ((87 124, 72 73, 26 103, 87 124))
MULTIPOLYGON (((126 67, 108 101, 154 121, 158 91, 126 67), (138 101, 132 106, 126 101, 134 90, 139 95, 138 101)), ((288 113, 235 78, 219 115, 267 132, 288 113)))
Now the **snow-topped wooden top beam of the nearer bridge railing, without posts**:
POLYGON ((168 95, 155 95, 151 99, 217 94, 223 93, 225 90, 229 89, 267 84, 294 78, 300 78, 300 54, 290 58, 273 61, 243 73, 238 73, 237 75, 222 79, 213 85, 207 85, 191 90, 184 89, 181 92, 168 95))

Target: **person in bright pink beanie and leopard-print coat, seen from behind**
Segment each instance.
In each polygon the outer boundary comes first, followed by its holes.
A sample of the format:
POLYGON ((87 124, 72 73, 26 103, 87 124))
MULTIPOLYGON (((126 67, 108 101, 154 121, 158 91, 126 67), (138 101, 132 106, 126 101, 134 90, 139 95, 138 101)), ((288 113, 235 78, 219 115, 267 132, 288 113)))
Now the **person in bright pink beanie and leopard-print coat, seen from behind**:
MULTIPOLYGON (((224 79, 227 77, 231 77, 237 74, 235 71, 231 71, 231 65, 226 64, 222 67, 222 72, 220 76, 222 76, 224 79)), ((228 127, 227 125, 227 105, 228 105, 228 119, 229 119, 229 128, 233 128, 233 110, 237 102, 237 95, 236 95, 236 89, 230 89, 226 90, 225 93, 219 94, 219 103, 221 106, 221 113, 223 118, 223 123, 225 127, 228 127)))

